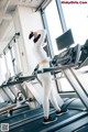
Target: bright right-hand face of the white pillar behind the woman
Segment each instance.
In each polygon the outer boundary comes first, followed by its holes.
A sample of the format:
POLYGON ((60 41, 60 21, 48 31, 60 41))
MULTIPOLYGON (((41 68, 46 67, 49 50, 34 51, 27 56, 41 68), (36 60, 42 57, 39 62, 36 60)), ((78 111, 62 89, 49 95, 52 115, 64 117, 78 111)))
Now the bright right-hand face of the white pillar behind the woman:
POLYGON ((33 43, 29 40, 29 34, 31 31, 36 31, 43 29, 42 19, 40 12, 30 12, 29 8, 20 7, 20 20, 23 31, 23 38, 25 43, 26 57, 29 64, 30 74, 33 72, 37 65, 36 58, 33 54, 33 43))

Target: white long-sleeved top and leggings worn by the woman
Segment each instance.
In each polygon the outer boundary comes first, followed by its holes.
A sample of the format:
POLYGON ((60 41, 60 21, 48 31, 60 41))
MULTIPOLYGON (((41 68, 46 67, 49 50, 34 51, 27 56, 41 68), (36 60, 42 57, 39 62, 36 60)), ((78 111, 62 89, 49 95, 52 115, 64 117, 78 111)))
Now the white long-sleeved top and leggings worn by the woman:
MULTIPOLYGON (((41 37, 38 38, 38 41, 36 43, 34 43, 35 57, 37 58, 38 64, 43 59, 47 59, 47 63, 40 64, 40 69, 42 69, 42 68, 50 67, 48 58, 47 58, 46 53, 42 46, 44 43, 46 33, 44 30, 41 30, 37 33, 41 34, 41 37)), ((56 110, 61 110, 58 107, 57 100, 54 96, 54 92, 53 92, 54 86, 52 82, 52 76, 51 76, 51 73, 45 73, 45 74, 37 75, 37 77, 42 81, 42 86, 43 86, 43 90, 44 90, 44 99, 43 99, 44 117, 48 117, 50 100, 52 101, 52 103, 56 110)))

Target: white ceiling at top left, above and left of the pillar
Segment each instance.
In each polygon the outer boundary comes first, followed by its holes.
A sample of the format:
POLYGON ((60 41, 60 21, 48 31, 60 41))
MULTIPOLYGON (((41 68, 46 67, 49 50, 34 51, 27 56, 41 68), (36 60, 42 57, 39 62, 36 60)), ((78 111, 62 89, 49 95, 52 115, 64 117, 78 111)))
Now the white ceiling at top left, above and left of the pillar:
POLYGON ((11 12, 15 10, 16 6, 37 9, 43 2, 47 1, 48 0, 0 0, 0 53, 14 35, 14 30, 11 30, 13 29, 11 12), (8 36, 7 32, 9 32, 8 36))

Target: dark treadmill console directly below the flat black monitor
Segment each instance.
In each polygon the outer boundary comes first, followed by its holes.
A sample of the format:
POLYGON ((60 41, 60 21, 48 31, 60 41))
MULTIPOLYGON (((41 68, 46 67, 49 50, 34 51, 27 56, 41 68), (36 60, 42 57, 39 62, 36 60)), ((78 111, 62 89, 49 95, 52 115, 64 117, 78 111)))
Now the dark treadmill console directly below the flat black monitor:
POLYGON ((69 47, 66 51, 62 52, 58 55, 55 55, 53 58, 53 65, 69 65, 78 63, 80 54, 80 45, 76 45, 75 47, 69 47))

